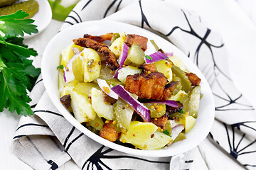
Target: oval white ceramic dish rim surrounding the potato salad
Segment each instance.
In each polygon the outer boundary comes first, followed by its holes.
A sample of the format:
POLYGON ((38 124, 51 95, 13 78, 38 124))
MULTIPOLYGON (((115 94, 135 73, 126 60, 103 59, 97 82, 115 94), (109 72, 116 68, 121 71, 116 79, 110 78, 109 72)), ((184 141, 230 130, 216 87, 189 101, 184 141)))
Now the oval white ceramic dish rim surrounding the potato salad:
POLYGON ((178 50, 177 47, 172 45, 167 40, 160 38, 158 35, 155 35, 148 30, 144 30, 142 28, 138 28, 136 26, 132 26, 126 23, 118 23, 112 21, 88 21, 85 23, 78 23, 61 31, 60 33, 55 35, 52 40, 50 40, 46 47, 46 50, 43 53, 42 75, 43 82, 46 86, 46 91, 48 92, 51 101, 53 102, 55 107, 58 108, 58 111, 60 111, 60 113, 62 113, 72 125, 78 128, 78 130, 80 130, 81 132, 85 133, 85 135, 101 143, 102 145, 111 147, 112 149, 116 149, 121 152, 146 157, 168 157, 171 155, 186 152, 193 147, 199 145, 206 138, 213 124, 215 113, 213 94, 210 90, 210 86, 206 81, 206 78, 203 77, 203 74, 200 72, 198 67, 196 67, 196 65, 193 64, 193 62, 191 62, 191 60, 189 60, 188 57, 186 57, 186 55, 181 52, 181 50, 178 50), (103 139, 102 137, 91 132, 90 130, 87 130, 87 128, 83 127, 80 123, 78 123, 78 121, 75 120, 75 118, 73 118, 73 116, 70 115, 70 113, 68 113, 65 107, 60 103, 57 70, 57 67, 60 64, 60 52, 66 46, 70 45, 70 43, 73 42, 73 39, 81 38, 85 33, 89 33, 91 35, 102 35, 105 33, 118 32, 135 33, 138 35, 144 35, 146 38, 149 38, 149 40, 154 40, 156 44, 161 47, 165 52, 174 52, 175 55, 183 60, 186 67, 191 72, 197 74, 198 77, 201 78, 203 97, 201 98, 198 118, 196 120, 196 125, 194 126, 194 128, 191 130, 191 132, 188 132, 188 134, 186 134, 186 140, 176 142, 166 149, 146 151, 117 145, 113 142, 103 139))

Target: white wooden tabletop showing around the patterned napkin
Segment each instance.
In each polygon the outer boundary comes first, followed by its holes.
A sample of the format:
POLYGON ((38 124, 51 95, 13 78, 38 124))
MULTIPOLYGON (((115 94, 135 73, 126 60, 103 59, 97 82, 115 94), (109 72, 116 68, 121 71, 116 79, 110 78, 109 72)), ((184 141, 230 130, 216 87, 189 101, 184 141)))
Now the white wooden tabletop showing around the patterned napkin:
MULTIPOLYGON (((256 84, 256 79, 252 77, 256 66, 256 23, 253 22, 253 19, 251 20, 247 16, 247 13, 245 13, 234 0, 195 0, 197 3, 201 4, 201 6, 194 6, 193 3, 195 3, 195 1, 169 1, 183 6, 184 8, 188 8, 191 11, 196 11, 198 15, 202 16, 203 21, 208 23, 209 28, 223 35, 223 40, 228 49, 228 54, 230 55, 230 73, 232 74, 233 80, 242 94, 244 94, 251 102, 252 106, 256 108, 256 94, 252 93, 252 90, 255 91, 256 84), (216 11, 218 8, 227 7, 229 9, 231 7, 233 10, 228 10, 225 13, 218 13, 218 11, 216 11), (211 18, 210 22, 208 21, 209 18, 211 18), (230 18, 232 19, 230 20, 230 18), (225 22, 229 22, 229 25, 226 26, 225 22)), ((252 17, 253 15, 255 16, 255 13, 250 14, 252 17)), ((44 48, 50 38, 58 33, 58 29, 61 25, 62 22, 52 20, 50 25, 46 30, 43 30, 42 33, 24 41, 26 45, 38 51, 36 60, 41 60, 44 48)), ((9 111, 6 110, 0 113, 0 169, 31 169, 30 166, 21 162, 11 153, 11 143, 19 118, 20 116, 16 113, 9 113, 9 111)), ((194 162, 194 169, 197 169, 196 167, 199 167, 199 164, 203 164, 203 162, 206 163, 208 169, 242 169, 242 166, 237 164, 232 157, 225 154, 217 145, 213 144, 208 139, 204 140, 201 145, 198 146, 198 151, 201 152, 201 160, 203 161, 194 162), (215 157, 215 155, 218 155, 218 157, 215 157), (226 157, 230 157, 230 159, 225 159, 226 157), (228 161, 223 162, 223 159, 228 161)), ((79 168, 73 162, 68 162, 60 166, 59 169, 79 168)))

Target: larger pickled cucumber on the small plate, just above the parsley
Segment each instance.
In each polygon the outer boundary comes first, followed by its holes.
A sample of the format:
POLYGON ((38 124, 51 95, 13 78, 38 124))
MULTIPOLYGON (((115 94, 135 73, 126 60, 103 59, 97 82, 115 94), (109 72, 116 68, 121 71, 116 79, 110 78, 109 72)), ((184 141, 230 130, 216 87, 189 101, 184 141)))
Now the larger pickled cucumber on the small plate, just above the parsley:
POLYGON ((26 13, 29 13, 29 16, 27 16, 26 18, 31 18, 38 12, 38 9, 39 5, 37 1, 28 0, 11 6, 0 8, 0 16, 9 15, 11 13, 16 13, 16 11, 18 10, 22 10, 25 11, 26 13))

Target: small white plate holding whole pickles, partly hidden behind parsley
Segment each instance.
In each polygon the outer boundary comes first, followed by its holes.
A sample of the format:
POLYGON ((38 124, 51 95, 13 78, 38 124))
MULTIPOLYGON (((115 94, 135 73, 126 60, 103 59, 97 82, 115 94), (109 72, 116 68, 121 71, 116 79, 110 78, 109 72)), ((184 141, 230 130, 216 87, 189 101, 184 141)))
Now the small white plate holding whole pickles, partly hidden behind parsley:
MULTIPOLYGON (((23 0, 25 1, 25 0, 23 0)), ((50 23, 50 20, 52 18, 52 11, 50 8, 50 4, 47 0, 37 0, 39 4, 39 10, 38 13, 36 13, 31 19, 35 20, 33 22, 33 25, 38 26, 38 33, 40 33, 42 30, 44 30, 50 23)), ((36 35, 32 33, 31 35, 25 33, 24 38, 30 38, 33 35, 36 35)))

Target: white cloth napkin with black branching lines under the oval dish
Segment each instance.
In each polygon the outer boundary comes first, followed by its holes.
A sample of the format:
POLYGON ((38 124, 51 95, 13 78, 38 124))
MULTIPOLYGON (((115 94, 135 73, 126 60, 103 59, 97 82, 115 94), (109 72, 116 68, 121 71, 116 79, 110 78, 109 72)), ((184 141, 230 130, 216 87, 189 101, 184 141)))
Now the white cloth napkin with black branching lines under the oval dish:
MULTIPOLYGON (((82 0, 61 30, 102 18, 159 33, 183 50, 208 79, 215 96, 216 116, 210 137, 247 169, 256 169, 255 111, 230 79, 225 45, 218 33, 207 28, 199 16, 160 0, 82 0)), ((90 140, 58 113, 41 79, 31 98, 36 115, 21 118, 13 146, 17 157, 33 169, 56 169, 70 159, 81 169, 169 169, 170 157, 134 157, 90 140)), ((193 158, 181 159, 183 156, 177 156, 182 161, 179 165, 177 157, 172 158, 171 169, 191 168, 193 158)))

